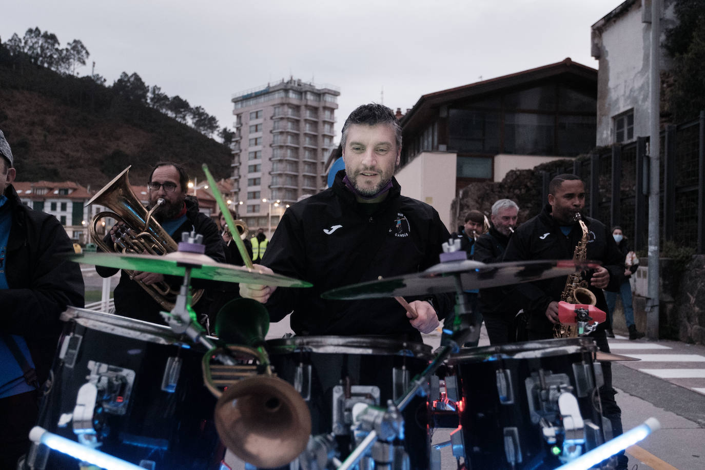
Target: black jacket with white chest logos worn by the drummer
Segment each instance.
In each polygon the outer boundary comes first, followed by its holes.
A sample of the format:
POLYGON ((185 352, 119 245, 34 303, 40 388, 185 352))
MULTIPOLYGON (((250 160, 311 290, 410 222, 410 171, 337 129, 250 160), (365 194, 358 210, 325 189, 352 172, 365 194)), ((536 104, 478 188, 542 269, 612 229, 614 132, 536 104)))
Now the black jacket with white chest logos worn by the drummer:
MULTIPOLYGON (((421 340, 404 309, 393 299, 329 300, 335 287, 423 271, 439 263, 448 240, 438 212, 400 195, 393 179, 388 197, 374 208, 360 204, 339 171, 333 187, 286 210, 267 246, 262 264, 275 273, 307 280, 313 287, 278 287, 266 303, 271 321, 293 311, 298 335, 396 335, 421 340)), ((407 301, 425 297, 406 297, 407 301)), ((439 318, 453 297, 434 297, 439 318)))

